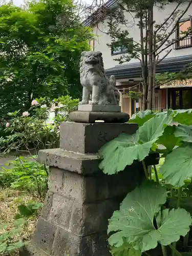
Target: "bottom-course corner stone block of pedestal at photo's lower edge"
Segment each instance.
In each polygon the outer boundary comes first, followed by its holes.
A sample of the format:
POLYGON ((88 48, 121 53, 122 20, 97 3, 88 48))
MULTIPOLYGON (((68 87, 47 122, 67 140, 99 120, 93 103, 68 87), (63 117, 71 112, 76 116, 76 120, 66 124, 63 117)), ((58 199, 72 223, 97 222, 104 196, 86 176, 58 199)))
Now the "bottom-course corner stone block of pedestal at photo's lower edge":
POLYGON ((77 237, 75 234, 58 227, 55 234, 52 255, 92 256, 91 237, 77 237))

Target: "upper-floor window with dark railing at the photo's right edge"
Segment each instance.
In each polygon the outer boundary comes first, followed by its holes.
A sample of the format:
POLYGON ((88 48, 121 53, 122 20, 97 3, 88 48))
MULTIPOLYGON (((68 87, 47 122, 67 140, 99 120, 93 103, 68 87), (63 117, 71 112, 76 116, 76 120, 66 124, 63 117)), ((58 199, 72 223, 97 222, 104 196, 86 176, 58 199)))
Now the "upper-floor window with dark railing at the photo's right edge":
MULTIPOLYGON (((184 36, 183 32, 187 31, 188 28, 190 27, 191 27, 191 19, 181 20, 177 26, 176 40, 178 38, 182 38, 184 36)), ((192 35, 188 35, 185 38, 177 41, 175 49, 177 50, 177 49, 188 48, 188 47, 192 47, 192 35)))

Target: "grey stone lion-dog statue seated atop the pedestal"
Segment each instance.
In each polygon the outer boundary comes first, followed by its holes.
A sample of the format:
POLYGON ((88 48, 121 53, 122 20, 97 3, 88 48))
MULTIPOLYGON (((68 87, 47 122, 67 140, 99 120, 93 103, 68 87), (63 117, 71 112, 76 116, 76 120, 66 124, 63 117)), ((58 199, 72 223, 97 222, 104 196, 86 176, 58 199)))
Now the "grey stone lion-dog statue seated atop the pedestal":
POLYGON ((101 52, 82 52, 80 82, 83 92, 79 104, 119 105, 115 76, 109 79, 105 75, 101 52))

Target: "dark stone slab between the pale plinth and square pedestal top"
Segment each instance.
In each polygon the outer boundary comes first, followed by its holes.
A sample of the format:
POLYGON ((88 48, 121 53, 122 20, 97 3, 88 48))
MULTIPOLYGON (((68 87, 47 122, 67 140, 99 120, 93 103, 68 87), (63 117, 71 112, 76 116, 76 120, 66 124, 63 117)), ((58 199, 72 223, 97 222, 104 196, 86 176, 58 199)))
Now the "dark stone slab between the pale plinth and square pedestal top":
POLYGON ((79 123, 95 123, 97 120, 105 123, 124 123, 129 119, 129 114, 123 112, 74 111, 70 114, 70 120, 79 123))

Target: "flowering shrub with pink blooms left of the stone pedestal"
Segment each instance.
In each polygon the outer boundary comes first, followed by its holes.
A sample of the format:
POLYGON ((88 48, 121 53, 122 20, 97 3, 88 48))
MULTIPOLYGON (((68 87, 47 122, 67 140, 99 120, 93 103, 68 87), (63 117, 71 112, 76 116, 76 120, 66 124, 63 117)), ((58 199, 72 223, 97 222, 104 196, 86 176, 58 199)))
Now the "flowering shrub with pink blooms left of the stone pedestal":
POLYGON ((63 106, 55 110, 56 116, 53 122, 48 123, 50 106, 54 102, 42 97, 34 101, 36 105, 32 105, 28 112, 8 113, 10 120, 7 123, 8 127, 4 127, 7 136, 0 137, 2 153, 28 151, 30 154, 33 152, 37 154, 38 150, 58 147, 59 125, 69 119, 70 113, 77 108, 79 102, 78 99, 72 99, 70 96, 55 99, 63 106))

